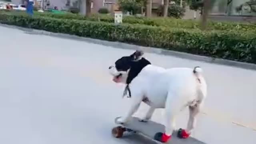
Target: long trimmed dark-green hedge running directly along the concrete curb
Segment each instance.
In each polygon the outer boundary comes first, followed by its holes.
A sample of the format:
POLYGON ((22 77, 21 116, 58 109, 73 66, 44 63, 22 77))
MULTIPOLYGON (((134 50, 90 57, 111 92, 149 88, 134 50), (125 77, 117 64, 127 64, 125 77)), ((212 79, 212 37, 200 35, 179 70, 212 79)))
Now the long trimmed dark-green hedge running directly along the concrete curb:
POLYGON ((256 63, 256 34, 0 14, 3 24, 256 63))

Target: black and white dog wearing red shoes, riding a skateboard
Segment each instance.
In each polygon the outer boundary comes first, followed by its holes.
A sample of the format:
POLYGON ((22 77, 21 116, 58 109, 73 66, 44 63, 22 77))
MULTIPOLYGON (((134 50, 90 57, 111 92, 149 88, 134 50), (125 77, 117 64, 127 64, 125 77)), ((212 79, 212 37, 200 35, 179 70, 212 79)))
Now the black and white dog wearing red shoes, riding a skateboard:
POLYGON ((118 59, 109 67, 113 81, 126 84, 125 92, 132 99, 128 113, 117 120, 125 123, 145 102, 150 109, 142 122, 150 120, 156 108, 165 109, 165 132, 157 132, 155 139, 160 142, 170 140, 175 127, 175 118, 181 110, 188 107, 189 120, 186 129, 179 129, 178 137, 188 138, 196 123, 207 93, 207 84, 202 76, 202 69, 170 68, 152 65, 142 57, 142 51, 118 59))

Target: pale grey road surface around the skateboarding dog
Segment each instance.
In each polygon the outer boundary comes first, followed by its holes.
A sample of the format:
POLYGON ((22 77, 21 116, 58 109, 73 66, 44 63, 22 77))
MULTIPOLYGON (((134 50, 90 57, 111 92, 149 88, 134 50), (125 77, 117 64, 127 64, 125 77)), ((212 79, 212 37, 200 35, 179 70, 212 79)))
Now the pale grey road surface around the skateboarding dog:
MULTIPOLYGON (((129 104, 108 66, 124 50, 0 27, 0 144, 142 144, 112 138, 129 104)), ((208 144, 256 143, 256 71, 146 53, 153 64, 201 66, 208 97, 193 137, 208 144)), ((140 107, 142 116, 147 106, 140 107)), ((177 128, 187 122, 185 110, 177 128)), ((152 120, 162 123, 162 110, 152 120)))

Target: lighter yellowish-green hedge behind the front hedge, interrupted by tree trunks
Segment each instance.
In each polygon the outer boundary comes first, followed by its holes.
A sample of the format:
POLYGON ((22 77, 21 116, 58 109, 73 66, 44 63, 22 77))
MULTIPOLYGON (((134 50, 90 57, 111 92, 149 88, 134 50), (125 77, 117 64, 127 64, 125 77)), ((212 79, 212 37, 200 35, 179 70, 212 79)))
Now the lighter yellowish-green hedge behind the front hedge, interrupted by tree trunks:
MULTIPOLYGON (((26 14, 22 12, 12 12, 14 14, 26 14)), ((44 16, 50 18, 60 19, 75 19, 75 20, 88 20, 88 21, 101 21, 114 23, 114 18, 111 15, 106 14, 92 14, 90 17, 85 17, 80 14, 52 14, 48 12, 34 12, 37 16, 44 16)), ((197 20, 181 20, 175 18, 146 18, 136 16, 124 16, 123 23, 127 24, 144 24, 149 26, 164 26, 168 28, 187 28, 187 29, 199 29, 200 22, 197 20)), ((207 28, 209 30, 240 30, 241 32, 255 31, 256 24, 249 23, 236 23, 236 22, 208 22, 207 28)))

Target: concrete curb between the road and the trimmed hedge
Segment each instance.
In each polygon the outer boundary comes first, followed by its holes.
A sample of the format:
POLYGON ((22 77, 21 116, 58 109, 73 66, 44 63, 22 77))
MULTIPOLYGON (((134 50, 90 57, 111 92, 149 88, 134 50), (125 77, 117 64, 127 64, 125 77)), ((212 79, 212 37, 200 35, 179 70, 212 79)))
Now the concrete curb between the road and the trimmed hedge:
POLYGON ((221 65, 227 65, 227 66, 234 66, 238 68, 246 68, 251 70, 256 70, 256 64, 250 64, 245 62, 237 62, 232 60, 225 60, 220 58, 211 58, 207 56, 198 56, 195 54, 188 54, 184 52, 177 52, 172 50, 164 50, 161 48, 152 48, 152 47, 145 47, 145 46, 138 46, 133 44, 126 44, 122 42, 110 42, 105 40, 98 40, 98 39, 92 39, 92 38, 85 38, 70 34, 62 34, 62 33, 54 33, 54 32, 48 32, 44 30, 36 30, 36 29, 30 29, 30 28, 23 28, 19 26, 12 26, 12 25, 6 25, 6 24, 0 24, 0 26, 7 27, 7 28, 16 28, 19 30, 22 30, 28 34, 40 34, 40 35, 47 35, 47 36, 54 36, 58 38, 67 38, 72 40, 80 40, 84 42, 90 42, 93 44, 101 44, 104 46, 111 46, 114 48, 122 48, 122 49, 129 49, 129 50, 143 50, 144 52, 148 53, 154 53, 154 54, 162 54, 167 56, 174 56, 178 58, 185 58, 190 60, 196 60, 196 61, 202 61, 202 62, 208 62, 213 64, 221 64, 221 65))

